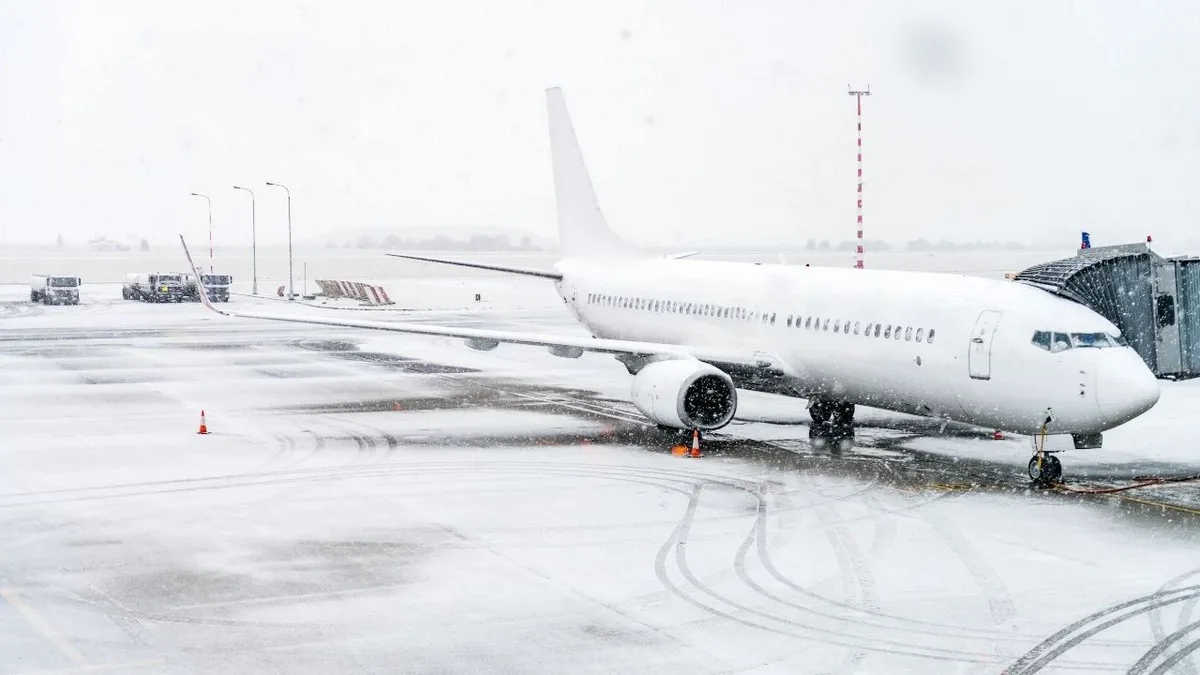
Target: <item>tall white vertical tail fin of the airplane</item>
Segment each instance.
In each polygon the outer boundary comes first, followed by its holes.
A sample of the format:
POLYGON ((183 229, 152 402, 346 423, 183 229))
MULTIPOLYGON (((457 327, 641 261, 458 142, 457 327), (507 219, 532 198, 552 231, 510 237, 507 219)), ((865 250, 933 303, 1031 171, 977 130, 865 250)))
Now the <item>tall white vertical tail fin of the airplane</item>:
POLYGON ((546 90, 546 108, 550 113, 550 154, 554 165, 554 198, 558 204, 558 245, 563 257, 638 255, 636 249, 608 229, 600 213, 562 89, 546 90))

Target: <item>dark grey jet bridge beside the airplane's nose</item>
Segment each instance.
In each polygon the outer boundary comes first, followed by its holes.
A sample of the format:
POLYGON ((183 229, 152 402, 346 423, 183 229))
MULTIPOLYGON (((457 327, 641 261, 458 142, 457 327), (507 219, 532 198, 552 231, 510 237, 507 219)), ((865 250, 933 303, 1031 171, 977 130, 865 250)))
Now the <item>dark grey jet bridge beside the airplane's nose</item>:
POLYGON ((1014 279, 1115 323, 1157 376, 1200 376, 1200 258, 1163 258, 1148 244, 1103 246, 1014 279))

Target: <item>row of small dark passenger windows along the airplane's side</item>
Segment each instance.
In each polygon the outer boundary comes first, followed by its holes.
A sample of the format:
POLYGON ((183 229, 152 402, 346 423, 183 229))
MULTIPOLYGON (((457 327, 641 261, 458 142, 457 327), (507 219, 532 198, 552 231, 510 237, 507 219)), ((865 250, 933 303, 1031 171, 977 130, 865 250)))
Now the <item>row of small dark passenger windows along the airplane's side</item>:
MULTIPOLYGON (((600 293, 588 293, 589 305, 602 305, 608 307, 631 309, 636 311, 652 311, 662 313, 684 313, 694 316, 713 316, 718 318, 731 318, 736 321, 758 321, 770 325, 775 324, 775 312, 754 311, 746 307, 730 307, 722 305, 708 305, 702 303, 682 303, 678 300, 652 300, 647 298, 625 298, 622 295, 605 295, 600 293)), ((853 322, 850 319, 829 319, 820 317, 803 317, 788 315, 786 325, 788 328, 805 328, 809 330, 829 330, 850 335, 864 335, 866 338, 882 338, 884 340, 916 340, 917 342, 932 342, 935 330, 930 328, 913 328, 911 325, 894 325, 884 323, 853 322)))

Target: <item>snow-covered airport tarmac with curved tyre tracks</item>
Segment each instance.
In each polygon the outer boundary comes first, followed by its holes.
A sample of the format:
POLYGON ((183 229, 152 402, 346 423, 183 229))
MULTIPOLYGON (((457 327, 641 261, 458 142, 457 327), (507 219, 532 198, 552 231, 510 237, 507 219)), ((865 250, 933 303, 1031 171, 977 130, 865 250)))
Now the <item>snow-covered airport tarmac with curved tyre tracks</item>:
MULTIPOLYGON (((832 455, 751 394, 676 458, 607 357, 19 291, 2 673, 1196 671, 1190 485, 1031 489, 1027 438, 877 411, 832 455)), ((526 291, 377 313, 580 330, 526 291)), ((1200 472, 1195 384, 1068 478, 1200 472)))

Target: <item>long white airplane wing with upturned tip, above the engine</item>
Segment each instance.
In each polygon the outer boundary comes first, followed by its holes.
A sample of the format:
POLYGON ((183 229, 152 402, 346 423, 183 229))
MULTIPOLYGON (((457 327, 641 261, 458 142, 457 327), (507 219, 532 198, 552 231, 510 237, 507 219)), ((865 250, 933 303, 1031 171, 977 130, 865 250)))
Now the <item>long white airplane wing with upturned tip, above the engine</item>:
MULTIPOLYGON (((180 235, 184 244, 184 252, 187 262, 194 271, 196 264, 192 262, 192 253, 187 250, 187 241, 180 235)), ((698 347, 688 345, 666 345, 661 342, 641 342, 636 340, 608 340, 588 336, 553 335, 538 333, 521 333, 514 330, 488 330, 479 328, 458 328, 449 325, 415 324, 394 321, 371 321, 338 316, 288 316, 287 313, 269 313, 258 311, 222 310, 209 301, 205 288, 198 286, 200 300, 204 306, 216 313, 240 318, 254 318, 263 321, 278 321, 286 323, 304 323, 311 325, 332 325, 340 328, 358 328, 365 330, 386 330, 391 333, 404 333, 409 335, 430 335, 442 338, 458 338, 468 344, 491 348, 500 342, 512 345, 532 345, 548 347, 557 356, 575 357, 582 352, 599 352, 607 354, 625 354, 630 357, 664 357, 664 358, 694 358, 714 365, 728 365, 754 369, 779 368, 779 362, 767 354, 754 351, 721 350, 710 347, 698 347)))

